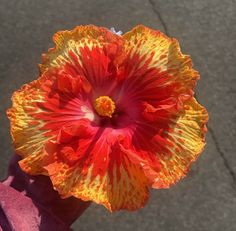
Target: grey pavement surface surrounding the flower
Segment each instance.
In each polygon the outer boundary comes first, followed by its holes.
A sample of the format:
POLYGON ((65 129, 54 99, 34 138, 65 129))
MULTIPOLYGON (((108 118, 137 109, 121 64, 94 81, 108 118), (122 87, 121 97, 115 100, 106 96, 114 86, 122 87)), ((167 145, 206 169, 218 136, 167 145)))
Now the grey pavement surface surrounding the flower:
POLYGON ((74 230, 236 230, 235 0, 0 0, 0 177, 13 153, 5 115, 11 94, 37 77, 51 36, 80 24, 126 32, 140 23, 176 37, 191 55, 210 116, 207 146, 189 176, 153 190, 144 209, 111 214, 93 204, 74 230))

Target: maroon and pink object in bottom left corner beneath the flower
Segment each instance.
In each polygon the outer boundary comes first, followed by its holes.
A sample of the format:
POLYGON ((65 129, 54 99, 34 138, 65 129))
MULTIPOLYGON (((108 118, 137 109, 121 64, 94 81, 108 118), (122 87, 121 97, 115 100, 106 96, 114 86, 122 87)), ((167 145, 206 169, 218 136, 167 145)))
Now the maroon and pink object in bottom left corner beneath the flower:
POLYGON ((61 199, 46 176, 30 176, 10 162, 8 178, 0 183, 0 231, 67 231, 90 202, 61 199))

